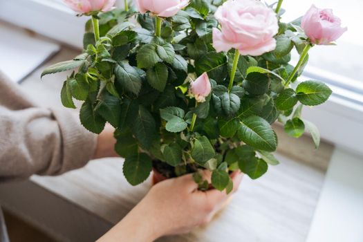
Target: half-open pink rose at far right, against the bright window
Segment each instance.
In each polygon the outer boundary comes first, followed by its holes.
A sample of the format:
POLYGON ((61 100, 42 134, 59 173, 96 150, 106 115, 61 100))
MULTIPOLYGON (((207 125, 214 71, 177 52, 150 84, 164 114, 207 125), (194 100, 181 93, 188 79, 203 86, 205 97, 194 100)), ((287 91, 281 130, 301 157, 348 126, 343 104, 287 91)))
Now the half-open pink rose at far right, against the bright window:
POLYGON ((306 12, 301 20, 301 28, 309 37, 312 44, 330 44, 346 32, 341 21, 333 15, 331 9, 319 9, 314 5, 306 12))

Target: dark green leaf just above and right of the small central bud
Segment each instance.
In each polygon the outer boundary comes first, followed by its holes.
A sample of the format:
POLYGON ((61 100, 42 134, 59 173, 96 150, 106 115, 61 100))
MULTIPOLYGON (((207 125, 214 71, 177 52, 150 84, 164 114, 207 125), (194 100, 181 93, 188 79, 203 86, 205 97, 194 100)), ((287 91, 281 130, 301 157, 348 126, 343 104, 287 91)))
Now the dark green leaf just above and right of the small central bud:
POLYGON ((223 53, 207 53, 196 60, 195 66, 198 76, 206 72, 218 83, 223 82, 227 77, 227 57, 223 53))

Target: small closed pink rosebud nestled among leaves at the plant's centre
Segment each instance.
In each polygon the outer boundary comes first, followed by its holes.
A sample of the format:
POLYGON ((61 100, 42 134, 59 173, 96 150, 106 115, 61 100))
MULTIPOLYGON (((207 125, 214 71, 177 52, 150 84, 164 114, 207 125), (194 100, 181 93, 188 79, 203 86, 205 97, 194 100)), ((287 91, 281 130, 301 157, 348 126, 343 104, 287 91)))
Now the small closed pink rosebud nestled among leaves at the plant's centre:
POLYGON ((196 102, 205 102, 205 97, 210 95, 211 91, 212 86, 207 73, 203 73, 189 87, 189 94, 196 99, 196 102))

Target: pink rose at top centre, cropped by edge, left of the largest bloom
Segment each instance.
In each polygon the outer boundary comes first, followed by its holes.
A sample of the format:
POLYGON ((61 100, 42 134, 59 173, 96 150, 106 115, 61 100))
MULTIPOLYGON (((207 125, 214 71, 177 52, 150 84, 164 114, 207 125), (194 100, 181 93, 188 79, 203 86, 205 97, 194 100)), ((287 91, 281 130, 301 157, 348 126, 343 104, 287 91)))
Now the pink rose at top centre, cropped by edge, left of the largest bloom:
POLYGON ((189 0, 136 0, 141 13, 151 12, 158 17, 172 17, 188 6, 189 0))

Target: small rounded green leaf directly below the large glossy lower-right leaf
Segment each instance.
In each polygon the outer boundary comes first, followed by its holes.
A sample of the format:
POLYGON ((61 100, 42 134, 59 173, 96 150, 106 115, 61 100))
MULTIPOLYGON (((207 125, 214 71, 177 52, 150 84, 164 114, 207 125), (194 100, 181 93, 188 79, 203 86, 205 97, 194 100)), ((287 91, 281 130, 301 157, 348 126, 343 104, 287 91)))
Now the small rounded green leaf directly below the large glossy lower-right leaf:
POLYGON ((267 163, 258 158, 239 161, 239 169, 245 174, 248 174, 251 179, 257 179, 263 176, 268 170, 267 163))

